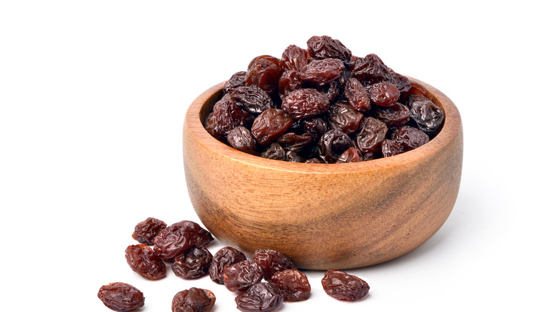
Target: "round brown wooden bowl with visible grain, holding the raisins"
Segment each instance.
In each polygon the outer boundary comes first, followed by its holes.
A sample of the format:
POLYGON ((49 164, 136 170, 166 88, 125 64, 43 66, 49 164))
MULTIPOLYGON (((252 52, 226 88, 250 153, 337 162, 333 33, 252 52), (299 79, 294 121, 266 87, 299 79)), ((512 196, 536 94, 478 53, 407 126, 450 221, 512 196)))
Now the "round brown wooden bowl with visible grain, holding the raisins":
POLYGON ((461 181, 463 132, 453 102, 433 95, 445 124, 426 145, 346 164, 282 162, 211 137, 205 120, 223 83, 199 95, 184 121, 184 167, 201 222, 224 244, 251 254, 274 249, 301 269, 370 266, 416 249, 453 209, 461 181))

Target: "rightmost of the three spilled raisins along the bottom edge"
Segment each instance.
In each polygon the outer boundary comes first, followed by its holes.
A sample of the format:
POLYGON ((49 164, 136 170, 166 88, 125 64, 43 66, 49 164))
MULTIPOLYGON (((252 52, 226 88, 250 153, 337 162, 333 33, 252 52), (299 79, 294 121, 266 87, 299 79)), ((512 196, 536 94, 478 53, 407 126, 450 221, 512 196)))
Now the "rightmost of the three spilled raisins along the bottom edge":
POLYGON ((281 290, 274 284, 258 283, 235 299, 236 307, 244 312, 270 312, 282 306, 281 290))

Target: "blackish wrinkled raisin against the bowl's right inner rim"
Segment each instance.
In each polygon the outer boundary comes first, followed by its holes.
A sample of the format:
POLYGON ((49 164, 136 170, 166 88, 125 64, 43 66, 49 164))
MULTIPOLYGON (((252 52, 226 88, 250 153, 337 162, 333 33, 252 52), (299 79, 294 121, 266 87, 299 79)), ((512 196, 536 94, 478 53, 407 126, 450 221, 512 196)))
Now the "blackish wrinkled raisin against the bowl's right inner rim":
POLYGON ((445 120, 443 110, 423 95, 410 95, 407 102, 410 108, 410 119, 416 128, 435 135, 445 120))

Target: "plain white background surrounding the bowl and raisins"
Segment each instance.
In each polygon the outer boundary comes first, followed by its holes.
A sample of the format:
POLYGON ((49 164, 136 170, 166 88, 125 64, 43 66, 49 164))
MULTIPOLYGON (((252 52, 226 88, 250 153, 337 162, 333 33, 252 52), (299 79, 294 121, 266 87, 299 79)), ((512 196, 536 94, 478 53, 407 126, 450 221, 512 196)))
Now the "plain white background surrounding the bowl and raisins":
MULTIPOLYGON (((184 114, 254 56, 313 35, 376 53, 443 91, 464 125, 461 189, 441 230, 388 263, 350 270, 362 301, 280 311, 556 311, 557 24, 550 1, 1 1, 1 311, 109 311, 124 281, 141 311, 208 278, 146 281, 126 264, 137 222, 198 221, 181 156, 184 114)), ((223 246, 216 242, 209 249, 223 246)))

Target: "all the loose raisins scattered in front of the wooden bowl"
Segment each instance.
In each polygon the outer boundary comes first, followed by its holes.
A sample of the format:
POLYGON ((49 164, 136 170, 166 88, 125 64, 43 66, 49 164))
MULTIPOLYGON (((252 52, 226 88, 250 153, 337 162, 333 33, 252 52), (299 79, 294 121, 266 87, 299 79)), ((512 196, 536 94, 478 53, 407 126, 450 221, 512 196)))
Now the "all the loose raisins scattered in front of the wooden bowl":
MULTIPOLYGON (((259 249, 247 259, 243 252, 226 246, 213 256, 205 248, 213 236, 195 222, 181 221, 167 227, 159 219, 147 218, 136 225, 131 236, 140 244, 128 246, 125 256, 137 274, 145 279, 162 279, 166 276, 165 262, 169 262, 181 278, 208 275, 211 281, 236 293, 240 311, 273 311, 283 301, 305 301, 310 296, 308 277, 284 254, 259 249)), ((369 291, 365 281, 343 271, 326 271, 321 284, 329 296, 345 301, 361 299, 369 291)), ((114 311, 132 311, 145 303, 139 289, 121 282, 101 286, 97 296, 114 311)), ((215 301, 212 291, 191 287, 176 293, 172 312, 209 312, 215 301)))

